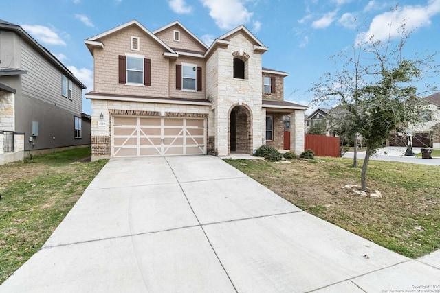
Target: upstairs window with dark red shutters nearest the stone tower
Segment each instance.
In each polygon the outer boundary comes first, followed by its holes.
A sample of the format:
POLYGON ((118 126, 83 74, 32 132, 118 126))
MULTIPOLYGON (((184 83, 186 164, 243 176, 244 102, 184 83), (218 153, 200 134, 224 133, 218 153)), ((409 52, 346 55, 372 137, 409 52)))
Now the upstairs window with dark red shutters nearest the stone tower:
POLYGON ((192 64, 177 64, 176 89, 201 91, 201 67, 192 64))

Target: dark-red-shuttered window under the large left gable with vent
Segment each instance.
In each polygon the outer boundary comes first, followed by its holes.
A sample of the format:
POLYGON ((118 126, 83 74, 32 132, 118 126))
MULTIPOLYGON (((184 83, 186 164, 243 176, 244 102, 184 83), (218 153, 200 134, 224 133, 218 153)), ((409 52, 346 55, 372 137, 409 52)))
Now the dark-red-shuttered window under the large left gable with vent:
POLYGON ((151 86, 151 59, 139 55, 120 55, 119 83, 151 86))

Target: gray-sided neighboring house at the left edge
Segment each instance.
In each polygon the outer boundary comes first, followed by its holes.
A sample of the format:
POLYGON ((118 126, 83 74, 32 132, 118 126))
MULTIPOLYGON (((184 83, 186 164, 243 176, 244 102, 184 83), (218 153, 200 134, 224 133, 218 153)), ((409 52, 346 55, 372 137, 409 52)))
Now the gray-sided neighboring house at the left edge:
POLYGON ((0 20, 0 156, 11 152, 10 143, 15 143, 13 152, 32 153, 89 145, 91 117, 82 113, 85 88, 19 25, 0 20))

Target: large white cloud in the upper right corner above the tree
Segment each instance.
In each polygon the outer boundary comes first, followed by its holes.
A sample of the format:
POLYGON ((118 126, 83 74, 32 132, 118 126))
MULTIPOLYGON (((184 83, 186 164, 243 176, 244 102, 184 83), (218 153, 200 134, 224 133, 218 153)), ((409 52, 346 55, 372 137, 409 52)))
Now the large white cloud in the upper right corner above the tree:
POLYGON ((368 32, 358 35, 358 41, 387 40, 401 33, 404 25, 407 31, 417 30, 419 27, 431 24, 431 17, 440 13, 440 0, 429 0, 428 5, 406 5, 394 11, 384 12, 373 18, 368 32))

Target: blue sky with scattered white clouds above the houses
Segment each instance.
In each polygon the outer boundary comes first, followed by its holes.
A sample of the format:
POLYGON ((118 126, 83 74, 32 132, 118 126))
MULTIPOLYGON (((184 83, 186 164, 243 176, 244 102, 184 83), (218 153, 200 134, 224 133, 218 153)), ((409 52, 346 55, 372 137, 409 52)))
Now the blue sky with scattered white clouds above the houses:
MULTIPOLYGON (((308 105, 307 90, 334 69, 329 57, 365 32, 386 38, 389 23, 414 30, 405 53, 440 50, 440 0, 0 0, 0 19, 21 25, 93 91, 93 58, 84 40, 136 19, 148 30, 180 21, 210 45, 245 25, 269 51, 263 67, 289 73, 285 99, 308 105), (399 6, 397 13, 391 8, 399 6), (395 18, 392 20, 392 18, 395 18), (355 20, 355 21, 354 21, 355 20), (356 28, 357 27, 357 28, 356 28)), ((393 34, 393 30, 391 30, 393 34)), ((437 62, 440 58, 436 57, 437 62)), ((91 114, 90 101, 83 112, 91 114)), ((310 110, 309 110, 310 112, 310 110)))

